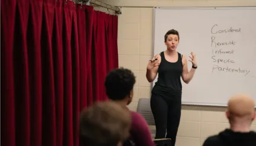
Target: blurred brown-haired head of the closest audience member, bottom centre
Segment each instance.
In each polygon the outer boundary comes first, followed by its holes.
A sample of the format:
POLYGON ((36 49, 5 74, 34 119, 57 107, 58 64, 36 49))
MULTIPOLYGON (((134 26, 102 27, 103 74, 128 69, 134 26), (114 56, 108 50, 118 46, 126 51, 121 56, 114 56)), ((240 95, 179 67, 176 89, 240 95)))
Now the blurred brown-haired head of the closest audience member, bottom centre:
POLYGON ((116 146, 129 138, 130 112, 113 101, 97 102, 81 112, 79 139, 86 146, 116 146))

